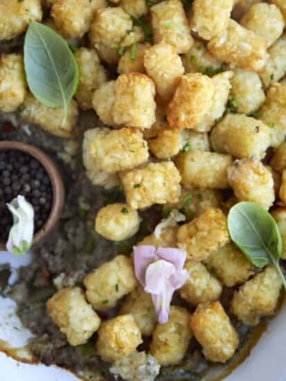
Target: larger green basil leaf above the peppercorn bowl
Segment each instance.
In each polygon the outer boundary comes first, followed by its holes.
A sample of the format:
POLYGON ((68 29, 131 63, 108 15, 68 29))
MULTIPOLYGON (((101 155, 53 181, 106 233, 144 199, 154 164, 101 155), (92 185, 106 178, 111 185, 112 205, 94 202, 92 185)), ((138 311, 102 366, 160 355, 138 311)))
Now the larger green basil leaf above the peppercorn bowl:
POLYGON ((69 45, 53 29, 33 21, 26 32, 24 64, 30 91, 47 107, 61 107, 64 124, 79 78, 69 45))

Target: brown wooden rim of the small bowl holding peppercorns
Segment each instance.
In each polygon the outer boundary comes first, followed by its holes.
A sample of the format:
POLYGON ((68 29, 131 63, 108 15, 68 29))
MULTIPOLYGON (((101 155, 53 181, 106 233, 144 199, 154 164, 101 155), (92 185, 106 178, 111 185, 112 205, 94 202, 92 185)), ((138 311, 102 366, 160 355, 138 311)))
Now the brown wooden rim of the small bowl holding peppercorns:
MULTIPOLYGON (((39 240, 42 240, 42 238, 53 229, 55 223, 60 219, 60 215, 62 214, 62 209, 64 207, 64 183, 62 181, 62 176, 53 160, 34 145, 24 144, 19 141, 0 141, 0 151, 7 150, 19 150, 30 154, 30 156, 34 157, 42 164, 51 179, 53 189, 52 209, 44 226, 33 238, 33 244, 35 244, 39 242, 39 240)), ((5 242, 0 242, 0 249, 6 249, 5 242)))

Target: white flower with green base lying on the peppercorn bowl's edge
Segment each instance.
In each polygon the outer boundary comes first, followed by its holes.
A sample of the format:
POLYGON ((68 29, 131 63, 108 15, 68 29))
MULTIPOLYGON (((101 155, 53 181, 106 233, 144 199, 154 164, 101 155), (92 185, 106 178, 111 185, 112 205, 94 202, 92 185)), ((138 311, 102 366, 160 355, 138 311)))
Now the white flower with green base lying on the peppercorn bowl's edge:
POLYGON ((33 206, 21 195, 18 195, 7 206, 13 216, 13 226, 10 229, 6 248, 15 255, 26 254, 33 241, 33 206))

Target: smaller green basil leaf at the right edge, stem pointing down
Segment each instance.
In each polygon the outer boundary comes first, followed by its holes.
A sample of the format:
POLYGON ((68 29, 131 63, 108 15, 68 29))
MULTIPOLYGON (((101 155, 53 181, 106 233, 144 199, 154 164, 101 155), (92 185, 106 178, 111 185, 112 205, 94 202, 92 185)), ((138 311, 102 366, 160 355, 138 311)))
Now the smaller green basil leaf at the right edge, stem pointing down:
POLYGON ((279 265, 281 233, 271 214, 253 202, 239 202, 229 211, 228 225, 231 239, 249 262, 259 268, 274 265, 286 290, 279 265))

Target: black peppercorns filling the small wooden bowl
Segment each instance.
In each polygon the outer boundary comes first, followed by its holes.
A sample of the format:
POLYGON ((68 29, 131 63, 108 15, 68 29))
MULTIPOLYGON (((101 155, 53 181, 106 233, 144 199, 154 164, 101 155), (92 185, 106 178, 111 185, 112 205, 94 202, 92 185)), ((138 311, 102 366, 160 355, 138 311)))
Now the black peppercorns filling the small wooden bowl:
POLYGON ((35 233, 51 213, 53 189, 44 166, 30 154, 19 150, 0 152, 0 240, 6 242, 12 215, 6 203, 23 195, 35 212, 35 233))

